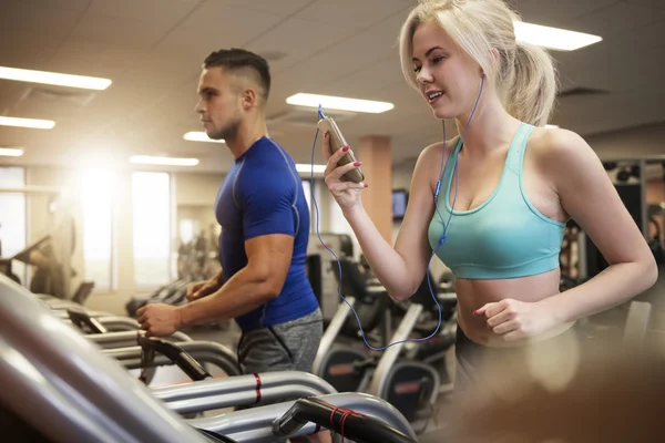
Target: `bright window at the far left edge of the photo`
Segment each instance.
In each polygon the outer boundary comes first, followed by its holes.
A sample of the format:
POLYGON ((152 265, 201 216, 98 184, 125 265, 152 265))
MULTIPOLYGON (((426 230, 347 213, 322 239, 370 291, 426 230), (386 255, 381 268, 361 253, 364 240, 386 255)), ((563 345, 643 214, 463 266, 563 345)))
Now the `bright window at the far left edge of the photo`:
MULTIPOLYGON (((22 167, 0 167, 0 188, 25 186, 25 169, 22 167)), ((0 257, 11 257, 25 248, 27 238, 25 194, 0 193, 0 257)), ((12 274, 23 286, 25 265, 13 260, 12 274)))

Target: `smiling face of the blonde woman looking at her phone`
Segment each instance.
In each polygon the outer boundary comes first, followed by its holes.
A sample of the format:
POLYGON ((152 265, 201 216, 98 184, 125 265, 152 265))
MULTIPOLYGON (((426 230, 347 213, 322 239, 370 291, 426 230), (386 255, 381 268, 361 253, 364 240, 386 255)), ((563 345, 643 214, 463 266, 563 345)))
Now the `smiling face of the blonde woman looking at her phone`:
POLYGON ((471 113, 482 72, 433 21, 413 33, 412 63, 418 85, 437 119, 457 119, 471 113))

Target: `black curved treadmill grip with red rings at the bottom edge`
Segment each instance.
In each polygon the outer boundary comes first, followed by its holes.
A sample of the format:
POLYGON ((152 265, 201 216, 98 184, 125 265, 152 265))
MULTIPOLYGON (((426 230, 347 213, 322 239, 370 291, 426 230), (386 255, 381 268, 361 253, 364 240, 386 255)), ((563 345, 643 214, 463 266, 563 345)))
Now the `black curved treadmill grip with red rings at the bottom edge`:
POLYGON ((316 398, 297 400, 275 421, 273 432, 275 435, 288 436, 310 422, 357 443, 415 443, 405 433, 372 416, 339 409, 316 398))

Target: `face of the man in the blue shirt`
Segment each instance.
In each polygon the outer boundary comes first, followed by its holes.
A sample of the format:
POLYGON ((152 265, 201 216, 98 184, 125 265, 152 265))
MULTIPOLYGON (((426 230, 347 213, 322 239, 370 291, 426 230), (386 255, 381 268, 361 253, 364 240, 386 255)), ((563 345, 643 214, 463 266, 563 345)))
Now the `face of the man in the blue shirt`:
POLYGON ((232 138, 242 120, 241 95, 223 68, 204 69, 198 80, 196 112, 209 138, 232 138))

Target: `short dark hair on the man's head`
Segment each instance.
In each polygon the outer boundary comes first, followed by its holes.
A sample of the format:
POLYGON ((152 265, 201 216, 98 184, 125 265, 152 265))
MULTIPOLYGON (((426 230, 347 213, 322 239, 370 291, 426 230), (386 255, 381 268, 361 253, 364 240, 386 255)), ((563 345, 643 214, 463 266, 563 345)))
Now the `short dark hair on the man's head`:
POLYGON ((270 93, 270 69, 268 62, 260 55, 244 49, 221 49, 212 52, 203 62, 205 69, 223 68, 227 72, 253 75, 260 86, 264 102, 270 93), (243 72, 245 71, 245 72, 243 72))

